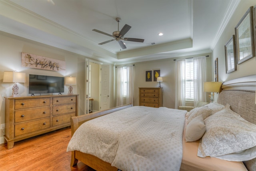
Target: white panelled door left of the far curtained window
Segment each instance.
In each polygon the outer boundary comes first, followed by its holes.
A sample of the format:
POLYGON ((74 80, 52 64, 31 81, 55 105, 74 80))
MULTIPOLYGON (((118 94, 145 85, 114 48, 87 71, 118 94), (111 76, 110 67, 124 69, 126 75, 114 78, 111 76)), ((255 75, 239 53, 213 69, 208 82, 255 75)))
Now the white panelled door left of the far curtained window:
POLYGON ((101 65, 101 103, 100 110, 105 110, 110 108, 109 102, 109 65, 101 65))

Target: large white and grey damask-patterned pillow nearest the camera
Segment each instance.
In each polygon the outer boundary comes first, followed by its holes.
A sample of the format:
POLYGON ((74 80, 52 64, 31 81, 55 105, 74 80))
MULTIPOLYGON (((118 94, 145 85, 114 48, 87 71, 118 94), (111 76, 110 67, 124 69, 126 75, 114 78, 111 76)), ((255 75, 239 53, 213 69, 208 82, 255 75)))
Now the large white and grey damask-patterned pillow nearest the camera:
MULTIPOLYGON (((198 157, 240 153, 256 146, 256 125, 246 121, 229 108, 209 116, 204 122, 206 132, 198 147, 198 157)), ((244 161, 244 159, 236 161, 244 161)))

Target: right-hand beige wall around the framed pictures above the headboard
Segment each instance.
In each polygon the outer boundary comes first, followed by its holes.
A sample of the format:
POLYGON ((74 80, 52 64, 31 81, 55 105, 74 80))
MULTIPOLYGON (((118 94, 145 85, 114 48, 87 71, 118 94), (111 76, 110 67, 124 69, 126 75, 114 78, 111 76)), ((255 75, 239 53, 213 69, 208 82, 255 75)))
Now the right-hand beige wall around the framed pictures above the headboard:
MULTIPOLYGON (((241 18, 244 16, 245 12, 248 10, 250 6, 256 6, 255 0, 241 0, 240 4, 238 5, 236 11, 234 12, 232 18, 228 22, 224 32, 220 36, 216 46, 212 51, 212 61, 214 64, 214 60, 218 58, 218 78, 219 82, 225 82, 228 80, 232 80, 234 78, 240 78, 243 76, 249 76, 252 74, 256 74, 256 59, 251 58, 242 64, 237 65, 237 70, 226 74, 226 61, 225 61, 225 50, 224 46, 231 38, 232 35, 235 34, 235 27, 241 18)), ((254 20, 254 22, 256 22, 254 20)), ((218 98, 218 94, 215 93, 214 101, 218 98)))

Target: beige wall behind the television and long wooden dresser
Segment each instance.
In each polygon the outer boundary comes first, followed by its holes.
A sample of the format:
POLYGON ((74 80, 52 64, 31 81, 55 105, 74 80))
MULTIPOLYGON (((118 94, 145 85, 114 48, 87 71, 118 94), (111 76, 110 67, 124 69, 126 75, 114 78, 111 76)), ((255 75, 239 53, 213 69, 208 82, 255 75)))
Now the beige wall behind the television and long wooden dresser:
MULTIPOLYGON (((28 94, 28 76, 29 74, 38 74, 46 76, 73 76, 76 77, 77 84, 73 85, 73 93, 79 94, 78 115, 85 112, 85 76, 86 76, 86 56, 81 56, 54 48, 45 44, 20 38, 5 32, 0 32, 0 124, 5 123, 5 96, 12 95, 12 85, 14 83, 3 83, 4 71, 18 71, 26 73, 26 83, 18 84, 19 94, 27 96, 28 94), (66 62, 66 71, 56 72, 49 70, 38 70, 21 67, 21 52, 45 56, 48 58, 64 60, 66 62)), ((88 58, 89 59, 89 58, 88 58)), ((104 63, 106 64, 106 63, 104 63)), ((110 74, 114 74, 114 67, 110 64, 110 74)), ((111 77, 110 87, 113 87, 114 80, 111 77)), ((65 85, 64 94, 68 93, 68 85, 65 85)), ((110 93, 113 93, 111 91, 110 93)), ((113 97, 114 95, 111 94, 113 97)), ((114 107, 114 98, 110 99, 110 107, 114 107)), ((0 131, 0 143, 4 142, 4 133, 0 131)))

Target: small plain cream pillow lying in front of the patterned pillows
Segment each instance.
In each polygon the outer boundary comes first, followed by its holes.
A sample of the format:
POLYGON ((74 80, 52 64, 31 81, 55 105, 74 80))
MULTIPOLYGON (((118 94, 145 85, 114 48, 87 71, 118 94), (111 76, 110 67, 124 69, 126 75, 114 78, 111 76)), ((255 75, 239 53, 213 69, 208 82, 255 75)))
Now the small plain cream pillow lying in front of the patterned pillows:
POLYGON ((186 142, 196 141, 204 135, 206 127, 202 115, 195 117, 186 127, 185 140, 186 142))

